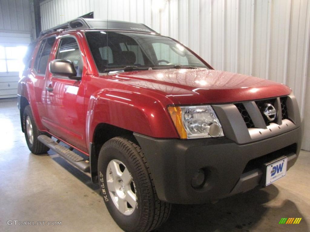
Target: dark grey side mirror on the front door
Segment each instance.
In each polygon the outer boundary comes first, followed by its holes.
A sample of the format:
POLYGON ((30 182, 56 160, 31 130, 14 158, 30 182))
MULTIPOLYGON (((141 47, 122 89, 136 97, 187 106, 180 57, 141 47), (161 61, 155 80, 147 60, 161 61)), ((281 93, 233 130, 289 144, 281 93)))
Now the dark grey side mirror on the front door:
POLYGON ((80 80, 77 77, 74 64, 69 60, 52 60, 49 65, 50 73, 55 75, 67 76, 70 79, 80 80))

